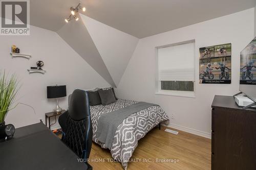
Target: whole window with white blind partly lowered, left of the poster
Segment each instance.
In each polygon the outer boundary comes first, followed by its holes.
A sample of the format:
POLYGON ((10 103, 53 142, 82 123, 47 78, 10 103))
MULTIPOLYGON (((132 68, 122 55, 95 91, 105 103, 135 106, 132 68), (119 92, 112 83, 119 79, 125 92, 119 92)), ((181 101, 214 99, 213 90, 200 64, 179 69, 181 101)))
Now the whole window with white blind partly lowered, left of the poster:
POLYGON ((195 41, 157 47, 157 94, 194 97, 195 41))

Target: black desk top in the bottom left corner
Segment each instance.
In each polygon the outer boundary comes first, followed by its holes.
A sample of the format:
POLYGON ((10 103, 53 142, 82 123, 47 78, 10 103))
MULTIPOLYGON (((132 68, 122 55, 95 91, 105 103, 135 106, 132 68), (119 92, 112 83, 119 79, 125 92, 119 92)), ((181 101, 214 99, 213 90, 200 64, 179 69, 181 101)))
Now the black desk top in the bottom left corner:
POLYGON ((44 124, 17 128, 13 139, 0 142, 0 169, 83 169, 78 156, 44 124))

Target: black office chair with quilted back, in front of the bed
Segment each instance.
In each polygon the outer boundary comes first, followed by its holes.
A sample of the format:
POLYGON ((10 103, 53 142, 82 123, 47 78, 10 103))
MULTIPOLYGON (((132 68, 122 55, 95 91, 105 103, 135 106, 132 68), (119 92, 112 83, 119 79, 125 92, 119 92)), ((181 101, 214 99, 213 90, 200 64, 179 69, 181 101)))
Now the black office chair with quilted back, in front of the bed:
POLYGON ((62 128, 61 140, 72 149, 79 158, 87 161, 92 148, 92 121, 89 99, 86 91, 73 91, 69 110, 59 116, 62 128))

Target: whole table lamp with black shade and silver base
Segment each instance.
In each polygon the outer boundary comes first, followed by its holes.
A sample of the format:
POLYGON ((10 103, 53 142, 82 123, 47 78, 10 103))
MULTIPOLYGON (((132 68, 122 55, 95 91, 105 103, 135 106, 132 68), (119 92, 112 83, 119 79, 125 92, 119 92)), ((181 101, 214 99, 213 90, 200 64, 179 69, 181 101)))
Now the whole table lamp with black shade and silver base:
POLYGON ((59 107, 58 98, 67 96, 66 85, 63 86, 47 86, 47 99, 57 99, 57 105, 53 112, 58 113, 62 111, 62 108, 59 107))

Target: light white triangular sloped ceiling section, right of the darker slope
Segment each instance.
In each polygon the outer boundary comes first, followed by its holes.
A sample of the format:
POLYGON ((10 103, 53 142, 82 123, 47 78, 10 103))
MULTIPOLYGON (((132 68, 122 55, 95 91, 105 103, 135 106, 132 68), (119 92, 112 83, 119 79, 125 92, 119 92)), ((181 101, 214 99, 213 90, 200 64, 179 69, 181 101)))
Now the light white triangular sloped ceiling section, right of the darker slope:
POLYGON ((111 77, 118 85, 139 39, 86 15, 80 14, 80 16, 111 77))

